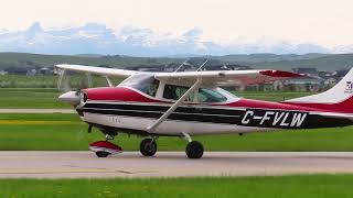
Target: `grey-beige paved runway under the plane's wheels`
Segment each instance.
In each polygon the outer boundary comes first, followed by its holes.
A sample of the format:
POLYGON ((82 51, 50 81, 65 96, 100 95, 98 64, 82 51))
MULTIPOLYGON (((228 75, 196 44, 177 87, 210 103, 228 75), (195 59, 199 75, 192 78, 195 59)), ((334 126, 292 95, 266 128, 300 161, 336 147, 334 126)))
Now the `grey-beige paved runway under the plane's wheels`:
POLYGON ((97 158, 90 152, 0 152, 0 178, 254 176, 353 173, 353 153, 184 152, 142 157, 126 152, 97 158))

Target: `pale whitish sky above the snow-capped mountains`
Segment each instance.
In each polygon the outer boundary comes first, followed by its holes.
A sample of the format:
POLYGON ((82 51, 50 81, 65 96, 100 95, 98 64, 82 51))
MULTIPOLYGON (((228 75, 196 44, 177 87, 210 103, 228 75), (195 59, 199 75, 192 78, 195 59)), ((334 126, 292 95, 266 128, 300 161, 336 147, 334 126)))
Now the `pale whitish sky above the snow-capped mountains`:
POLYGON ((203 31, 218 43, 261 37, 322 46, 353 44, 352 0, 0 0, 0 29, 104 23, 157 32, 203 31))

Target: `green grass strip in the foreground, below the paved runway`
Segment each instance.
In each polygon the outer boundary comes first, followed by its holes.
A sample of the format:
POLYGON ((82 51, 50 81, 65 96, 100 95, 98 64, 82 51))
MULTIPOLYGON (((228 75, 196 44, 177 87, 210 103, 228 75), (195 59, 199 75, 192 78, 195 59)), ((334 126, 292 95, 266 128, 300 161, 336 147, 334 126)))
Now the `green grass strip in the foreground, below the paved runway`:
POLYGON ((152 179, 1 179, 1 197, 351 198, 353 175, 152 179))

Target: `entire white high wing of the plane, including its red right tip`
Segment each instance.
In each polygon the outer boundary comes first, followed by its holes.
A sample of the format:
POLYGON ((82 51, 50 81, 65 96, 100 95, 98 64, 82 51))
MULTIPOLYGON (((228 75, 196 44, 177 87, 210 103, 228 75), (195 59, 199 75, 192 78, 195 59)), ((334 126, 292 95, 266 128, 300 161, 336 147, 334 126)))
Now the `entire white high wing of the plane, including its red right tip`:
POLYGON ((295 78, 302 75, 282 70, 206 70, 206 72, 179 72, 179 73, 146 73, 117 68, 104 68, 82 65, 56 65, 57 68, 90 73, 101 76, 129 77, 136 74, 151 74, 159 80, 191 86, 197 79, 203 86, 234 86, 254 85, 285 78, 295 78))

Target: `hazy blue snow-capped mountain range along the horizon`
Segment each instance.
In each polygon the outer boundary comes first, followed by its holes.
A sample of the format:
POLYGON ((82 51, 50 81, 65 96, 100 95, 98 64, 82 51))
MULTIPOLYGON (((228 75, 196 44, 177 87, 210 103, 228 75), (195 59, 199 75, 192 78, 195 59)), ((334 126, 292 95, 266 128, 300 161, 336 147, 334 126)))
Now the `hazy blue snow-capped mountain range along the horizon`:
MULTIPOLYGON (((24 31, 0 29, 0 52, 40 54, 122 54, 131 56, 225 55, 225 54, 306 54, 332 51, 311 43, 292 44, 261 38, 256 42, 236 41, 218 44, 203 41, 202 30, 192 29, 181 35, 150 29, 126 26, 113 30, 105 24, 45 30, 33 23, 24 31)), ((351 48, 351 47, 350 47, 351 48)))

